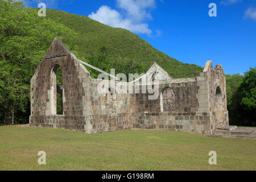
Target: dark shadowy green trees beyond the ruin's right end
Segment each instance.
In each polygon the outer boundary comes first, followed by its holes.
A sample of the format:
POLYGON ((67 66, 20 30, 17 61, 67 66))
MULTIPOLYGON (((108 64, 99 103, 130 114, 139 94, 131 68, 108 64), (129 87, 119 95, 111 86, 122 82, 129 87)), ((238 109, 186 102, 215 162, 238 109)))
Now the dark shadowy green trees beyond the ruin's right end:
POLYGON ((226 76, 230 125, 256 126, 256 69, 226 76))

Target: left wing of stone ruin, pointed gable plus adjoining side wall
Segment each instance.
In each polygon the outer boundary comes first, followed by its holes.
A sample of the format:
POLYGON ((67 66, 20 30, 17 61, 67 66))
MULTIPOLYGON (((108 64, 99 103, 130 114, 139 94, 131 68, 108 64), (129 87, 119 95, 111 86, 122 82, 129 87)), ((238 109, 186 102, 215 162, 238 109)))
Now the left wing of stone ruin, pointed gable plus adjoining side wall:
POLYGON ((53 41, 31 79, 30 126, 101 133, 132 127, 129 94, 104 93, 97 90, 102 80, 90 78, 89 72, 65 48, 53 41), (64 53, 65 56, 57 56, 64 53), (53 56, 48 58, 48 56, 53 56), (63 115, 56 114, 56 75, 63 70, 63 115))

